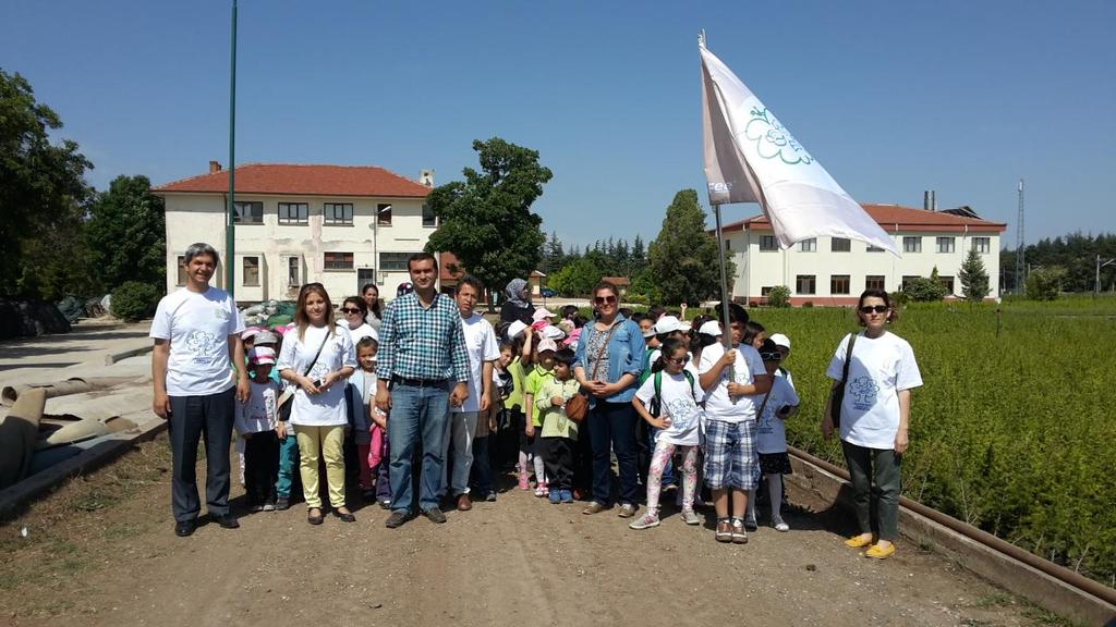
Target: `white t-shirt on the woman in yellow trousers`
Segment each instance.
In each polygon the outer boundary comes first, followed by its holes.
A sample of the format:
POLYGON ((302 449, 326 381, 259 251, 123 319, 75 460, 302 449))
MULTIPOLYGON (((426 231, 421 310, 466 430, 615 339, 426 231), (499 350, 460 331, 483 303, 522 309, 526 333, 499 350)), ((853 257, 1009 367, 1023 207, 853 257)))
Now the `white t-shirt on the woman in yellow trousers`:
MULTIPOLYGON (((306 336, 299 339, 298 328, 291 329, 282 338, 282 349, 279 351, 280 370, 291 369, 302 375, 314 361, 314 367, 306 376, 324 379, 331 372, 346 366, 356 368, 356 351, 353 350, 353 339, 345 327, 338 325, 329 334, 328 327, 306 327, 306 336), (315 361, 314 356, 321 347, 321 354, 315 361)), ((348 411, 345 405, 345 382, 336 380, 328 389, 310 396, 301 386, 295 387, 295 398, 291 399, 290 422, 307 426, 336 426, 348 424, 348 411)))

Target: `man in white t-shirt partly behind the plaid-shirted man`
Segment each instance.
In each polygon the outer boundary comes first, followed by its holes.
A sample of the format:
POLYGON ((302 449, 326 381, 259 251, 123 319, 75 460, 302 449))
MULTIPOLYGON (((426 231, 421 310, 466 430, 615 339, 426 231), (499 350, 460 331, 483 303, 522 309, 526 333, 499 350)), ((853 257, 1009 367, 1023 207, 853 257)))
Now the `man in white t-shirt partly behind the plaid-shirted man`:
MULTIPOLYGON (((443 494, 449 489, 458 500, 459 511, 473 509, 469 498, 469 472, 473 465, 473 434, 477 433, 477 418, 492 405, 492 368, 500 358, 500 345, 496 340, 496 330, 483 316, 477 314, 477 299, 481 293, 481 284, 471 276, 458 281, 456 301, 461 311, 461 328, 465 335, 465 351, 469 354, 469 397, 458 407, 451 408, 450 423, 446 425, 442 457, 444 459, 453 446, 453 466, 446 467, 443 481, 443 494)), ((488 463, 488 460, 481 460, 488 463)))

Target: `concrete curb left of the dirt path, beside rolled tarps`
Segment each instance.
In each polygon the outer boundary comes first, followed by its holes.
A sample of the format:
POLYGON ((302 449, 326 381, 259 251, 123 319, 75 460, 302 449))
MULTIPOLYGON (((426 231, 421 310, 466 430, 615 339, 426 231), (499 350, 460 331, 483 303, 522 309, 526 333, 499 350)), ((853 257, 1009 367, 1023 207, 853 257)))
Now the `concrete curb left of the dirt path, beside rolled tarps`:
POLYGON ((40 473, 32 474, 23 481, 0 491, 0 519, 7 518, 19 507, 29 502, 35 496, 50 491, 67 479, 92 472, 119 457, 129 451, 133 445, 153 440, 166 431, 167 427, 166 421, 160 418, 151 411, 136 412, 122 417, 126 417, 140 426, 121 432, 116 434, 117 437, 107 440, 88 451, 83 451, 78 455, 52 465, 40 473))

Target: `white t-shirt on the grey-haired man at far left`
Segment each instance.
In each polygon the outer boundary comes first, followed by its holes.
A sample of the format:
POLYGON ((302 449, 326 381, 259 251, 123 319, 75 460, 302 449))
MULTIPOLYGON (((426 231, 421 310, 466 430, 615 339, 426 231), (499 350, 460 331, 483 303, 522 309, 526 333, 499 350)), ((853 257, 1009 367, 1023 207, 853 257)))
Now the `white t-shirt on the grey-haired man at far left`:
POLYGON ((232 387, 229 336, 243 330, 237 301, 224 290, 210 287, 199 293, 182 288, 163 297, 150 336, 171 343, 166 394, 206 396, 232 387))

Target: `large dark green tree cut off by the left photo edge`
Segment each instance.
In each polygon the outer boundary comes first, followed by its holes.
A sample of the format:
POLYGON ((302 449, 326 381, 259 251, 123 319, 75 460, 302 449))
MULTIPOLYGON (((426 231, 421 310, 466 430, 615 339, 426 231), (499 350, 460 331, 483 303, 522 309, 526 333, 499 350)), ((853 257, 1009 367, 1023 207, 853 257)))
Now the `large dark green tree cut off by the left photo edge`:
POLYGON ((86 288, 79 247, 93 164, 19 74, 0 69, 0 292, 60 298, 86 288))

